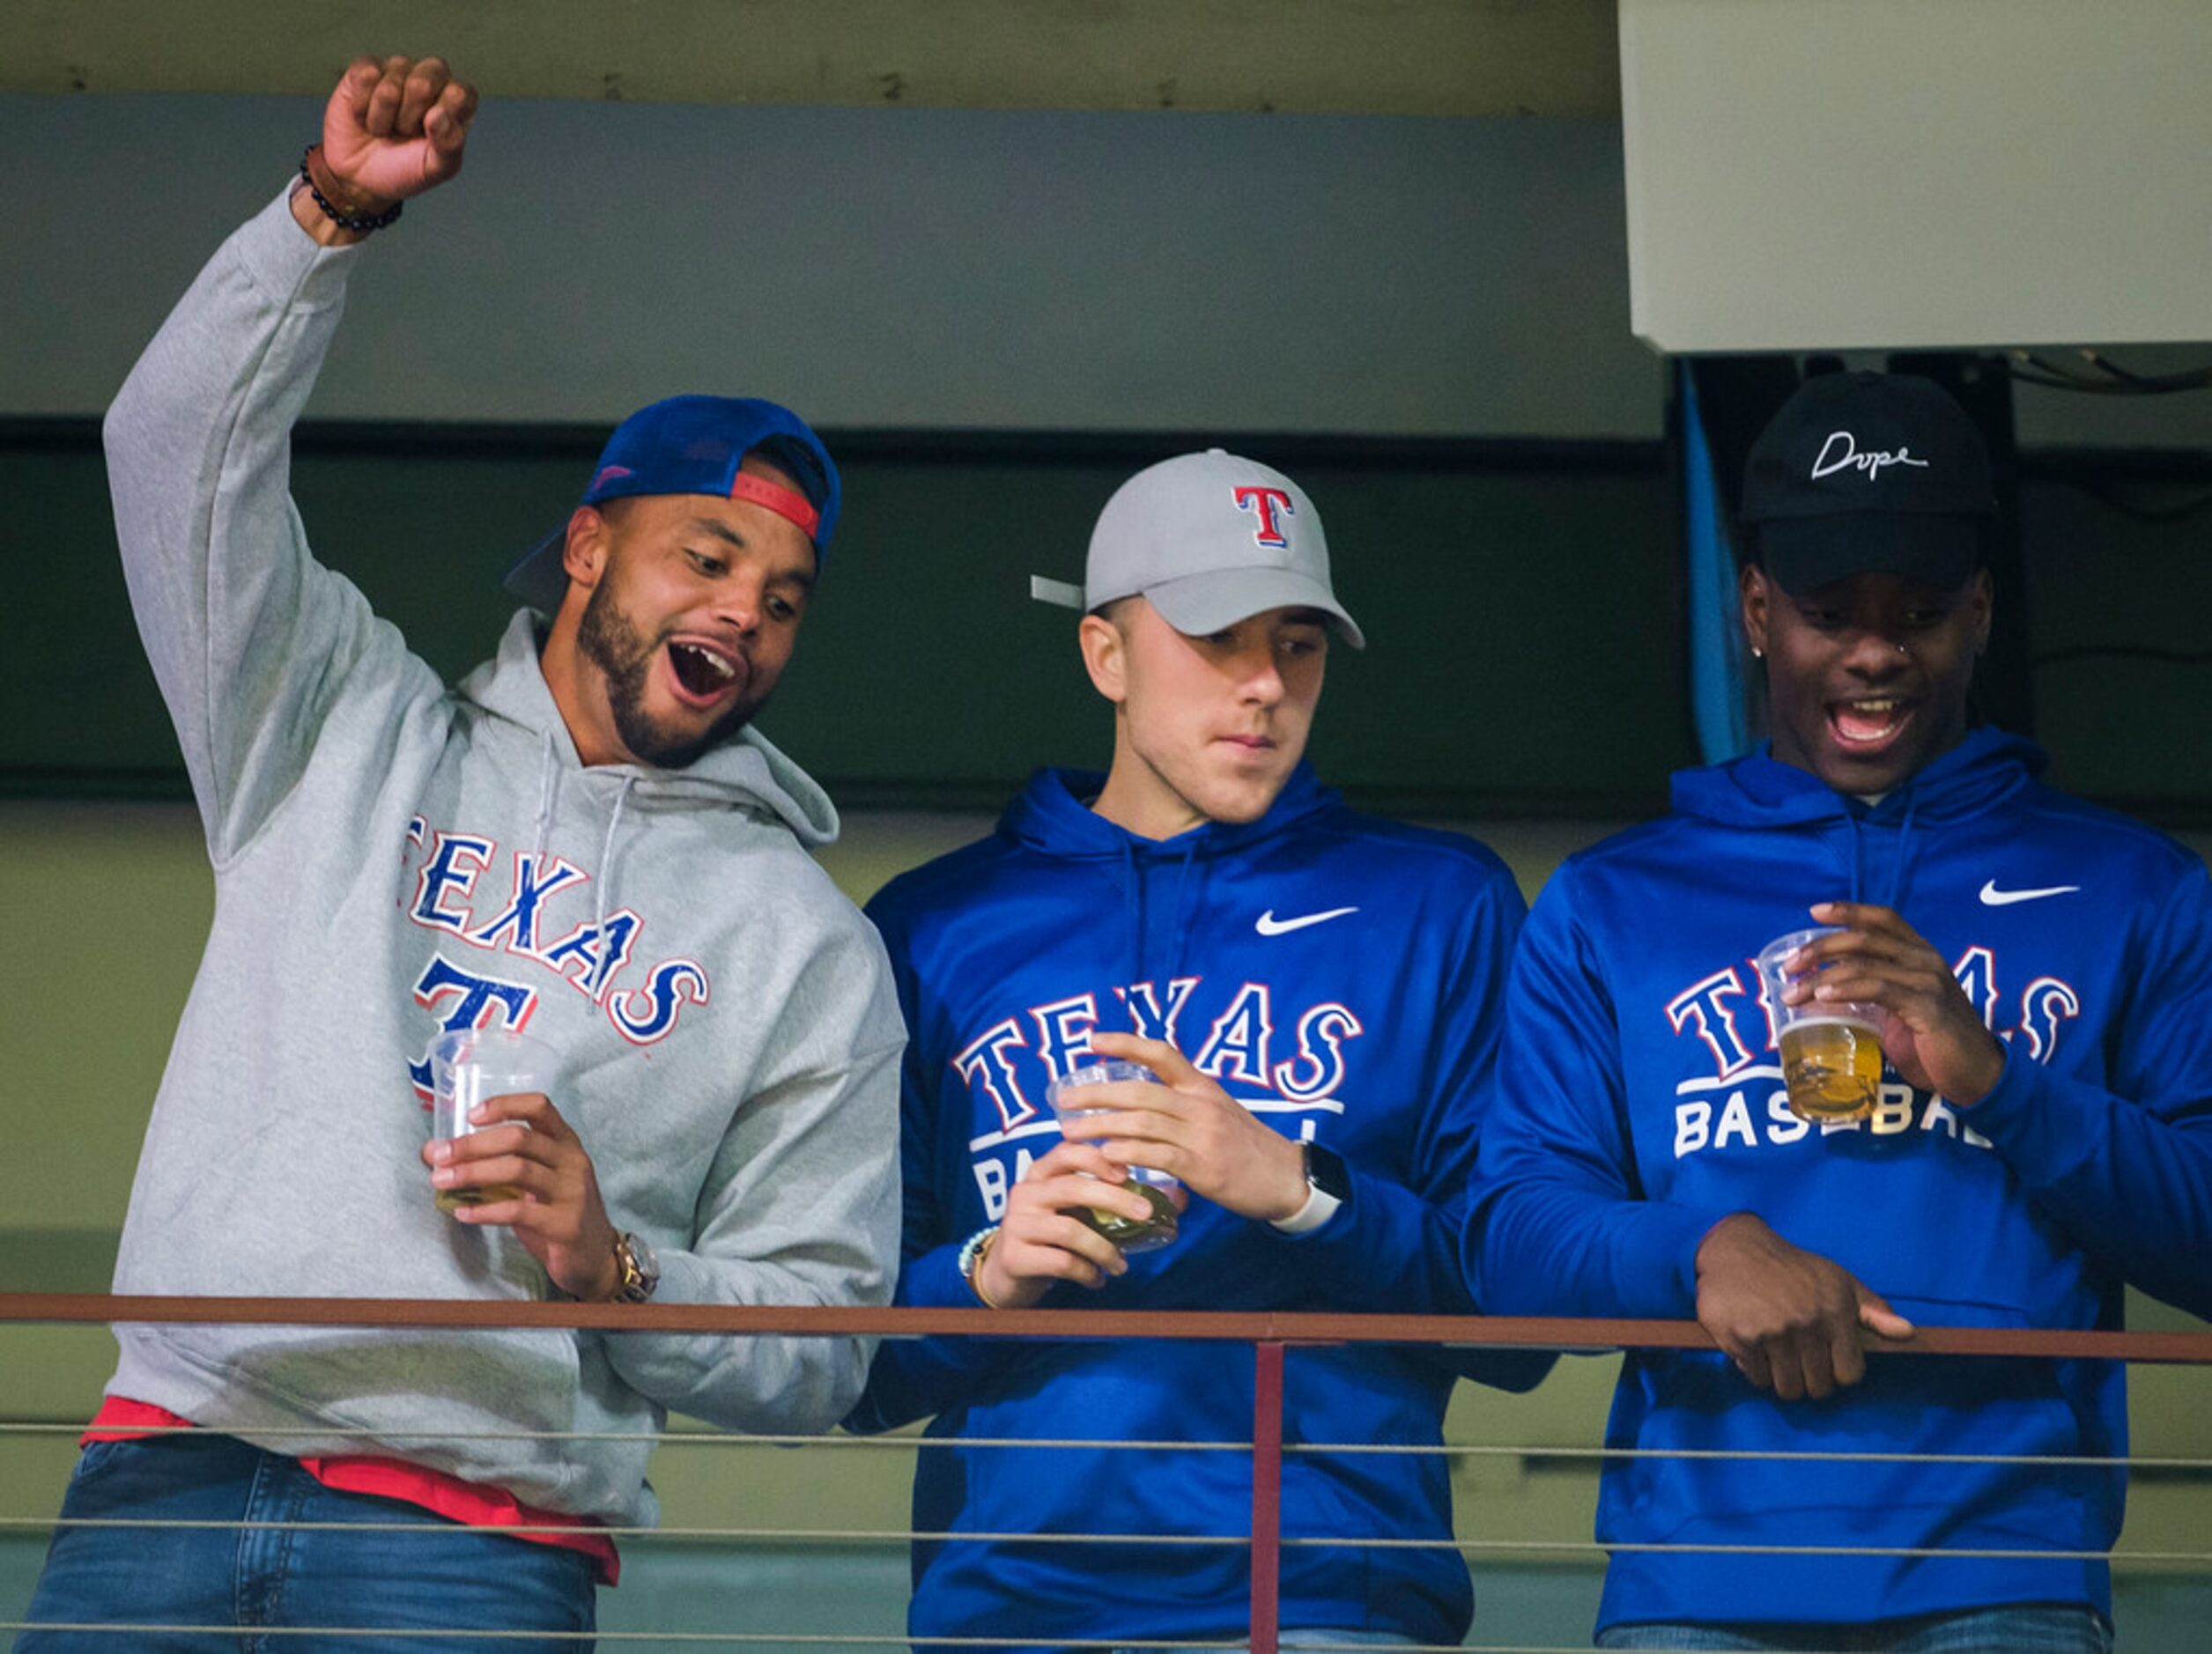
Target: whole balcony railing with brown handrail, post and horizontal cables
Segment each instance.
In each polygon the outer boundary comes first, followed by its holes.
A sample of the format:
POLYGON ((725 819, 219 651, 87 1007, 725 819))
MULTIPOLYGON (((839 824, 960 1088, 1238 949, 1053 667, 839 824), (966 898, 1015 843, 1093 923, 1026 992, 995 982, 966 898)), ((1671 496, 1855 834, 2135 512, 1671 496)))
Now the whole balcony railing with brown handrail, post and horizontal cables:
MULTIPOLYGON (((1978 1559, 2081 1559, 2104 1561, 2104 1550, 2048 1550, 2048 1548, 1878 1548, 1878 1546, 1719 1546, 1719 1543, 1606 1543, 1555 1541, 1555 1539, 1383 1539, 1383 1537, 1310 1537, 1281 1532, 1281 1468, 1298 1455, 1442 1455, 1442 1457, 1502 1457, 1559 1464, 1606 1464, 1639 1457, 1668 1459, 1781 1459, 1820 1464, 2035 1464, 2044 1468, 2130 1468, 2179 1473, 2183 1477, 2205 1475, 2212 1479, 2212 1459, 2154 1455, 2154 1457, 2011 1457, 2011 1455, 1920 1455, 1920 1453, 1845 1453, 1845 1451, 1672 1451, 1672 1448, 1615 1448, 1590 1444, 1444 1444, 1405 1446, 1376 1442, 1283 1442, 1283 1355, 1298 1347, 1329 1344, 1433 1344, 1451 1349, 1548 1349, 1571 1353, 1606 1353, 1630 1349, 1712 1349, 1712 1338, 1697 1322, 1672 1320, 1590 1320, 1590 1318, 1498 1318, 1498 1316, 1391 1316, 1391 1313, 1245 1313, 1245 1311, 1179 1311, 1179 1313, 1130 1313, 1091 1309, 821 1309, 821 1307, 730 1307, 730 1305, 582 1305, 582 1302, 524 1302, 524 1300, 407 1300, 407 1298, 201 1298, 201 1296, 108 1296, 108 1294, 0 1294, 0 1327, 66 1327, 66 1325, 285 1325, 285 1327, 438 1327, 438 1329, 549 1329, 549 1331, 608 1331, 608 1333, 710 1333, 732 1338, 993 1338, 993 1340, 1203 1340, 1250 1344, 1256 1351, 1254 1367, 1254 1431, 1241 1442, 1130 1442, 1068 1435, 1064 1440, 1006 1440, 1006 1437, 922 1437, 922 1435, 743 1435, 730 1431, 677 1428, 655 1437, 668 1448, 712 1448, 712 1446, 803 1446, 807 1451, 834 1453, 931 1453, 938 1448, 1117 1448, 1117 1451, 1172 1451, 1172 1453, 1234 1453, 1250 1455, 1252 1475, 1252 1524, 1250 1532, 1225 1535, 1135 1535, 1135 1532, 1084 1532, 1084 1535, 1035 1535, 1035 1532, 927 1532, 911 1528, 794 1528, 794 1526, 699 1526, 670 1524, 655 1528, 599 1528, 611 1539, 659 1539, 659 1541, 714 1541, 714 1543, 878 1543, 905 1546, 909 1541, 1000 1541, 1033 1546, 1068 1543, 1117 1543, 1117 1546, 1212 1546, 1252 1552, 1252 1603, 1250 1603, 1250 1647, 1254 1654, 1276 1650, 1276 1563, 1281 1552, 1316 1546, 1345 1546, 1371 1550, 1458 1550, 1475 1557, 1522 1557, 1522 1559, 1577 1559, 1586 1561, 1606 1552, 1699 1552, 1699 1554, 1794 1554, 1794 1557, 1978 1557, 1978 1559)), ((2174 1331, 2057 1331, 2057 1329, 1984 1329, 1984 1327, 1922 1327, 1909 1340, 1871 1342, 1880 1358, 2042 1358, 2042 1360, 2115 1360, 2128 1364, 2157 1367, 2212 1367, 2212 1333, 2174 1331)), ((7 1404, 0 1402, 0 1411, 7 1404)), ((0 1422, 0 1442, 73 1437, 82 1433, 82 1422, 0 1422)), ((175 1426, 179 1431, 190 1426, 175 1426)), ((257 1437, 281 1444, 288 1435, 330 1440, 327 1428, 270 1428, 257 1437)), ((611 1431, 471 1431, 438 1433, 422 1431, 414 1440, 436 1442, 453 1437, 473 1440, 535 1440, 535 1442, 597 1442, 637 1440, 630 1433, 611 1431)), ((60 1517, 0 1515, 0 1535, 55 1530, 62 1526, 146 1526, 135 1521, 62 1521, 60 1517)), ((168 1524, 168 1526, 221 1526, 221 1528, 281 1528, 314 1530, 336 1524, 168 1524)), ((356 1532, 380 1530, 378 1524, 345 1524, 356 1532)), ((414 1524, 389 1524, 389 1530, 418 1530, 414 1524)), ((476 1532, 535 1535, 549 1532, 542 1526, 511 1524, 478 1528, 476 1532)), ((2212 1577, 2212 1550, 2143 1550, 2126 1552, 2130 1566, 2185 1568, 2212 1577)), ((27 1621, 0 1619, 0 1630, 29 1630, 27 1621)), ((230 1627, 157 1627, 157 1625, 91 1625, 42 1630, 117 1632, 117 1647, 131 1647, 128 1639, 168 1634, 208 1634, 230 1627)), ((376 1641, 383 1636, 422 1636, 422 1632, 383 1632, 376 1627, 312 1627, 285 1632, 281 1627, 259 1627, 261 1636, 345 1636, 376 1641)), ((487 1645, 502 1641, 542 1636, 535 1632, 498 1630, 451 1630, 438 1632, 440 1641, 451 1639, 456 1647, 487 1645)), ((1480 1625, 1478 1625, 1480 1636, 1480 1625)), ((1002 1647, 1004 1639, 920 1639, 920 1636, 869 1636, 869 1634, 805 1634, 805 1632, 597 1632, 599 1645, 690 1645, 690 1647, 1002 1647)), ((1175 1641, 1130 1641, 1130 1639, 1053 1639, 1055 1647, 1201 1647, 1175 1641)), ((312 1643, 303 1643, 312 1647, 312 1643)), ((1212 1647, 1210 1643, 1203 1647, 1212 1647)), ((1303 1643, 1301 1647, 1327 1647, 1325 1643, 1303 1643)), ((1396 1643, 1400 1654, 1425 1654, 1425 1643, 1396 1643)), ((1551 1654, 1573 1645, 1535 1643, 1464 1643, 1467 1650, 1491 1650, 1491 1654, 1551 1654)))

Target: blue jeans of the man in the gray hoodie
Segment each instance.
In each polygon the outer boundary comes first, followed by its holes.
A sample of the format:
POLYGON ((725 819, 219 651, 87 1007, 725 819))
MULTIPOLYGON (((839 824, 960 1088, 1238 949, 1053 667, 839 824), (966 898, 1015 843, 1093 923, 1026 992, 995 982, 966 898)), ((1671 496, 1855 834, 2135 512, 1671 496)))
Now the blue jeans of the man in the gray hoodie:
POLYGON ((55 1528, 18 1654, 588 1654, 591 1557, 473 1532, 396 1499, 338 1493, 296 1459, 228 1435, 93 1442, 77 1455, 64 1521, 217 1524, 55 1528), (327 1524, 252 1528, 239 1524, 327 1524), (376 1524, 367 1526, 365 1524, 376 1524), (387 1530, 394 1528, 394 1530, 387 1530), (179 1627, 175 1632, 122 1627, 179 1627), (257 1636, 323 1627, 323 1636, 257 1636), (341 1636, 343 1627, 422 1636, 341 1636), (453 1630, 544 1632, 456 1639, 453 1630))

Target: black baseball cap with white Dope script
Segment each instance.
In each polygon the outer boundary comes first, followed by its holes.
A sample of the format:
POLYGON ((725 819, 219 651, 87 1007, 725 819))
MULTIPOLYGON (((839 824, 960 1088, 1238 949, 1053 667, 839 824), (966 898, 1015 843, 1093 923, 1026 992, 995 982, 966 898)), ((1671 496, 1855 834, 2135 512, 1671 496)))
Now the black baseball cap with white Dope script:
POLYGON ((1818 374, 1781 405, 1743 467, 1752 555, 1790 593, 1860 573, 1953 590, 1997 515, 1989 444, 1918 374, 1818 374))

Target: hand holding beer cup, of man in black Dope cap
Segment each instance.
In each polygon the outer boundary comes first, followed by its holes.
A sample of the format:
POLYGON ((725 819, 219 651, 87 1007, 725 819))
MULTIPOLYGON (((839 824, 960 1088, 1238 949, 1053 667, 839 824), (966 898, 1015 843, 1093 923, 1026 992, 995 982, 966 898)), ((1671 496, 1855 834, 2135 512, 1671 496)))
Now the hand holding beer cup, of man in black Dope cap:
POLYGON ((1858 999, 1880 1006, 1882 1055, 1891 1068, 1960 1108, 1982 1101, 2004 1075, 2004 1046, 1927 938, 1896 909, 1871 902, 1816 902, 1812 915, 1845 929, 1798 953, 1807 975, 1783 997, 1790 1004, 1858 999))

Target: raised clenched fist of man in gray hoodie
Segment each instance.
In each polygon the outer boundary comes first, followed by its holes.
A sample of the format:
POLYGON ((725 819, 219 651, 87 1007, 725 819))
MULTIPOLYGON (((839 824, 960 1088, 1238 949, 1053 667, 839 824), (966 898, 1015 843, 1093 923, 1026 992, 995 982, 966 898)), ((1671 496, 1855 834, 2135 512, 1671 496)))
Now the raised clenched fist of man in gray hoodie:
MULTIPOLYGON (((476 88, 445 57, 356 57, 323 108, 316 188, 347 217, 376 217, 460 172, 476 88)), ((299 190, 292 214, 325 245, 358 241, 299 190)))

